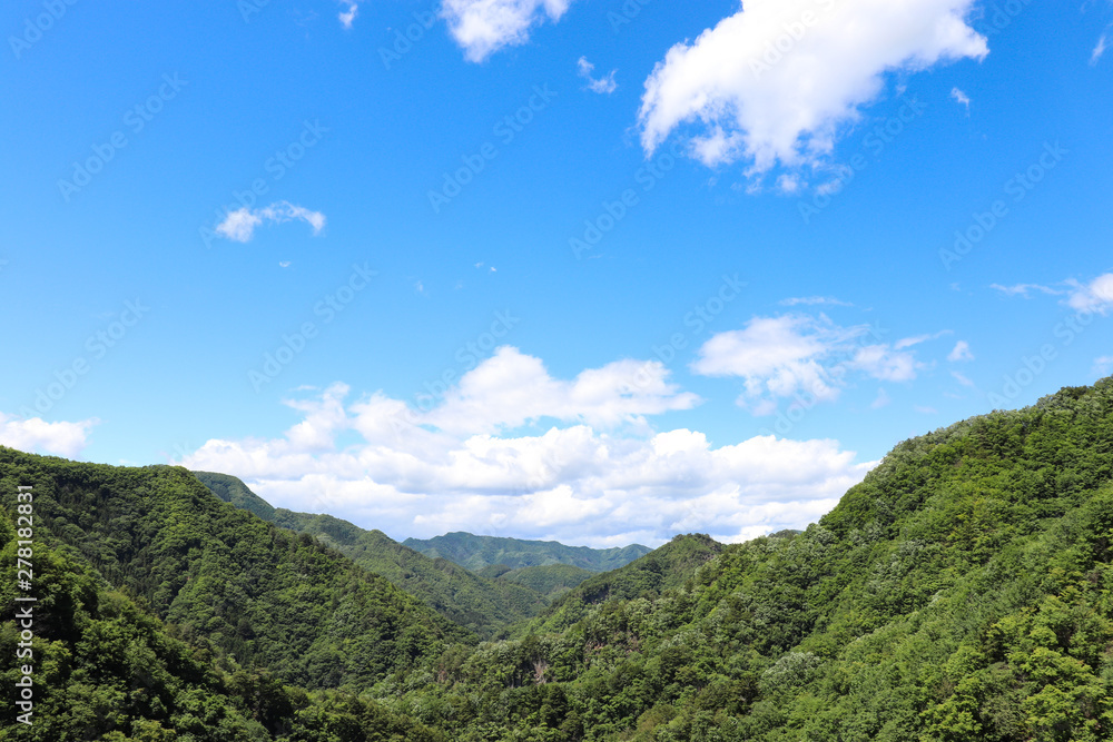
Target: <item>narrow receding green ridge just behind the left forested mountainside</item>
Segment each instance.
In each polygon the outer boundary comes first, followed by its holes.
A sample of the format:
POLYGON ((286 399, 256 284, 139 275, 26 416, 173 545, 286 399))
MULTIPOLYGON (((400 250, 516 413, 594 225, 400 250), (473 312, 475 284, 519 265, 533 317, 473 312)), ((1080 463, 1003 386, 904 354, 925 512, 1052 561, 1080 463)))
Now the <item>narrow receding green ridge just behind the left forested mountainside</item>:
POLYGON ((549 604, 548 592, 533 590, 524 581, 486 580, 452 562, 420 554, 381 531, 365 531, 331 515, 270 507, 234 476, 194 474, 221 499, 275 525, 314 536, 480 636, 498 635, 506 625, 536 615, 549 604))

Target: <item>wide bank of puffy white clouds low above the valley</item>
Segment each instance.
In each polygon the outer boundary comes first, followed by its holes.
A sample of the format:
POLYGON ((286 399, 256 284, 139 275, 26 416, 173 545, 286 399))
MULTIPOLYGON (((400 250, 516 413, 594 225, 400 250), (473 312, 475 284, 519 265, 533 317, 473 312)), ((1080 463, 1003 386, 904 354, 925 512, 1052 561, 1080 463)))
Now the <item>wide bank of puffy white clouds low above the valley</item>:
POLYGON ((503 348, 427 412, 382 393, 349 399, 347 385, 334 384, 286 402, 302 419, 283 436, 209 441, 180 463, 239 476, 276 506, 397 538, 463 530, 593 546, 801 527, 874 466, 835 441, 713 446, 687 428, 623 427, 630 414, 693 403, 654 364, 618 362, 553 379, 540 360, 503 348), (509 400, 490 407, 502 394, 509 400), (577 422, 490 432, 528 417, 577 422))

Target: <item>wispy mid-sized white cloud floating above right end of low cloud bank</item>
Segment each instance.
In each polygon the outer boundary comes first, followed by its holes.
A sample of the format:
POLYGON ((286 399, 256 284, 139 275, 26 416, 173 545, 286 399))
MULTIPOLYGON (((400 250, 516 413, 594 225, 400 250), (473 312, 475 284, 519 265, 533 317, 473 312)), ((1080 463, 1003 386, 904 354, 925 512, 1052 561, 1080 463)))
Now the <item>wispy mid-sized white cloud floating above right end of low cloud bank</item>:
POLYGON ((885 382, 908 382, 923 366, 905 348, 928 339, 879 340, 875 328, 839 327, 827 317, 755 317, 745 328, 711 337, 700 347, 692 370, 705 376, 739 376, 738 404, 757 415, 777 409, 777 399, 838 398, 848 377, 861 374, 885 382))

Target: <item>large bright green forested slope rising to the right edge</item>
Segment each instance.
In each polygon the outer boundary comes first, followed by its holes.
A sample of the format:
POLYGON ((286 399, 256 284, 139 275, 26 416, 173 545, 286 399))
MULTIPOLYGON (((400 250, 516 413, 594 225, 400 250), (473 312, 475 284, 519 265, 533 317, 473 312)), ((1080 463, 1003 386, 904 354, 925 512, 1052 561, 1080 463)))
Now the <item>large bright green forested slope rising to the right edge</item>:
POLYGON ((589 583, 400 703, 464 742, 1113 739, 1113 383, 905 442, 679 586, 589 583))

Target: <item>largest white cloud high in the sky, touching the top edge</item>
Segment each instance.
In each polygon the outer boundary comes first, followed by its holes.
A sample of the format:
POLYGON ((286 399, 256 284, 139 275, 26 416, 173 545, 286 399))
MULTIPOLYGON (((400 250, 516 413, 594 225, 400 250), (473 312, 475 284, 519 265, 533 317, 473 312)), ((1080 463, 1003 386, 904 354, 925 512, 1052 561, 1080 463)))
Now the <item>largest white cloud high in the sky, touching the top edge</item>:
POLYGON ((672 47, 646 81, 639 122, 652 152, 683 128, 706 165, 751 175, 817 165, 890 72, 982 59, 965 22, 973 0, 747 0, 745 10, 672 47))

